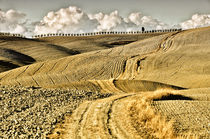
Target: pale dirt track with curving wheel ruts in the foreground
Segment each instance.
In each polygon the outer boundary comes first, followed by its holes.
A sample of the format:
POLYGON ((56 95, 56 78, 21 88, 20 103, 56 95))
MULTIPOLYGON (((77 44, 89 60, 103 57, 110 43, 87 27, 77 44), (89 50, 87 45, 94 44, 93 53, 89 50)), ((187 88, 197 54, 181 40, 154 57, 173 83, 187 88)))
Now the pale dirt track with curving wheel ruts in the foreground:
MULTIPOLYGON (((56 133, 64 133, 62 138, 132 138, 136 135, 124 129, 128 126, 127 118, 124 119, 126 124, 122 123, 122 119, 126 117, 126 105, 120 103, 129 95, 114 96, 104 100, 94 102, 86 102, 73 113, 70 119, 66 119, 66 123, 62 125, 61 131, 56 128, 56 133), (122 106, 119 107, 118 105, 122 106), (118 109, 120 108, 120 110, 118 109), (123 110, 124 109, 124 110, 123 110), (123 110, 123 111, 122 111, 123 110), (122 113, 124 113, 122 115, 122 113), (118 116, 122 117, 119 118, 118 116), (64 130, 64 131, 63 131, 64 130), (63 132, 62 132, 63 131, 63 132)), ((137 136, 136 136, 137 137, 137 136)))

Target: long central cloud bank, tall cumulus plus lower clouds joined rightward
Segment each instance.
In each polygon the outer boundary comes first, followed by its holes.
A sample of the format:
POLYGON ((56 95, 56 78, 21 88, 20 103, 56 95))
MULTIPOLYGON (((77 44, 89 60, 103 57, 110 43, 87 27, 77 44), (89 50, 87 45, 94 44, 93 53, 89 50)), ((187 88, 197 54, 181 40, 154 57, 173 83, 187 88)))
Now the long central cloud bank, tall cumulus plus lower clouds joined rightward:
POLYGON ((119 12, 88 14, 78 7, 49 12, 35 27, 35 34, 42 33, 84 33, 96 31, 135 31, 144 26, 147 29, 165 29, 168 25, 141 13, 131 13, 123 18, 119 12))

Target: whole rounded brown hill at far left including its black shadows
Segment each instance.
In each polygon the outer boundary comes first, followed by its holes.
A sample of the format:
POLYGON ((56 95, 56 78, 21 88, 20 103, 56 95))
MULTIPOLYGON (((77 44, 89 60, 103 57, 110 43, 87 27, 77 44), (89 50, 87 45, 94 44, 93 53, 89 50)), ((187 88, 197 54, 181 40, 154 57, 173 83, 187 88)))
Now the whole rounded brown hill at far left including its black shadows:
POLYGON ((38 40, 0 37, 0 72, 80 52, 38 40))

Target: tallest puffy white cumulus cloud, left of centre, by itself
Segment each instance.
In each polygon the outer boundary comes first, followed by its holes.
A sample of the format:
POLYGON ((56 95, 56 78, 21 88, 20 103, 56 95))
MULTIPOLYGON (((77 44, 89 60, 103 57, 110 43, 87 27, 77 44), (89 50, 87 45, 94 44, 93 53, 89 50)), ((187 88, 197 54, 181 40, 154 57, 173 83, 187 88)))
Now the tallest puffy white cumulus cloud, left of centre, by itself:
POLYGON ((34 33, 83 33, 94 30, 96 25, 97 21, 90 20, 80 8, 70 6, 57 12, 49 12, 36 25, 34 33))

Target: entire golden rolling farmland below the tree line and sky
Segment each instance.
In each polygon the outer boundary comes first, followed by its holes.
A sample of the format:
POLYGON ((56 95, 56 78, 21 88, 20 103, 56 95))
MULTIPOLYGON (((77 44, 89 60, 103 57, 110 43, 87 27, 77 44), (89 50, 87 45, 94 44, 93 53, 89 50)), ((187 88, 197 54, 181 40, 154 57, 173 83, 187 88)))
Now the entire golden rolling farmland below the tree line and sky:
POLYGON ((0 137, 208 139, 209 38, 0 37, 0 137))

